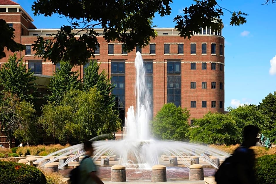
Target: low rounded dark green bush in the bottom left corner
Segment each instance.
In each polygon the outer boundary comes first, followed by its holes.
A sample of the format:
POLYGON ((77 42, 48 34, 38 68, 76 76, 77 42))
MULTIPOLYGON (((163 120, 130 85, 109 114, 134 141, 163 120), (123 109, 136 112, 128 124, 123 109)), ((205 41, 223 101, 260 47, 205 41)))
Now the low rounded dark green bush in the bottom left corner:
POLYGON ((22 163, 0 161, 0 183, 46 184, 45 175, 36 167, 22 163))

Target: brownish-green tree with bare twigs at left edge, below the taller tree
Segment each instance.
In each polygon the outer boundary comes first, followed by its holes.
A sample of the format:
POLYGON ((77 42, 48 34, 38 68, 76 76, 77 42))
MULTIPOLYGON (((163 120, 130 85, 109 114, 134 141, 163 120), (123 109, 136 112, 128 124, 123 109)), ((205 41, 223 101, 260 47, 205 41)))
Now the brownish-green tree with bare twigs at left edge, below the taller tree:
POLYGON ((36 136, 36 126, 32 122, 35 110, 30 102, 20 101, 16 94, 4 92, 4 97, 0 102, 0 122, 1 129, 7 135, 9 148, 11 148, 12 138, 24 137, 30 142, 36 136))

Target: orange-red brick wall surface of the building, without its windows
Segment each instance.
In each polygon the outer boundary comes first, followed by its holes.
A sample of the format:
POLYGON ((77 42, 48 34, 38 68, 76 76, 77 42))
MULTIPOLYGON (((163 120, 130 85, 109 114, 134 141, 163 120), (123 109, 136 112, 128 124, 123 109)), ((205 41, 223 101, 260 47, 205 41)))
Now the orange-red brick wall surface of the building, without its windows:
MULTIPOLYGON (((16 5, 14 5, 16 6, 16 5)), ((19 6, 19 5, 18 5, 19 6)), ((22 8, 21 8, 22 9, 22 8)), ((36 29, 30 20, 26 18, 28 15, 24 12, 0 12, 0 18, 7 23, 13 23, 15 28, 15 41, 23 45, 32 44, 38 34, 45 36, 46 33, 56 33, 57 29, 36 29), (22 30, 23 29, 23 30, 22 30), (23 33, 23 35, 22 35, 23 33)), ((206 28, 207 29, 207 28, 206 28)), ((96 29, 99 33, 102 29, 96 29)), ((151 43, 156 45, 155 54, 150 53, 150 46, 142 48, 142 57, 144 60, 153 61, 153 115, 161 109, 167 102, 167 61, 177 60, 181 62, 181 107, 187 107, 190 110, 190 118, 201 118, 206 112, 224 112, 224 37, 220 33, 214 34, 197 34, 191 39, 184 39, 178 35, 174 28, 156 28, 158 36, 151 40, 151 43), (168 33, 164 35, 163 33, 168 33), (170 44, 169 54, 164 54, 164 43, 170 44), (196 43, 196 54, 191 54, 191 43, 196 43), (201 54, 201 44, 207 44, 206 54, 201 54), (211 54, 211 44, 216 44, 216 54, 211 54), (184 53, 178 54, 178 44, 184 44, 184 53), (220 45, 222 45, 222 55, 220 55, 220 45), (196 70, 191 70, 191 63, 196 63, 196 70), (201 69, 201 63, 206 63, 207 69, 201 69), (216 63, 216 70, 211 70, 211 63, 216 63), (222 71, 220 70, 222 64, 222 71), (196 89, 191 89, 191 82, 196 82, 196 89), (201 88, 201 82, 207 82, 207 89, 201 88), (216 89, 211 89, 211 82, 216 82, 216 89), (223 88, 220 89, 219 83, 222 82, 223 88), (191 101, 196 101, 196 108, 191 108, 191 101), (207 107, 201 107, 201 101, 207 101, 207 107), (216 101, 216 107, 211 107, 211 101, 216 101), (220 108, 220 101, 222 108, 220 108)), ((207 31, 206 31, 207 33, 207 31)), ((53 38, 45 36, 46 38, 53 38)), ((100 43, 100 54, 95 58, 98 63, 101 62, 100 71, 106 70, 108 77, 111 76, 111 60, 125 61, 125 109, 133 105, 136 106, 136 97, 134 93, 134 85, 136 80, 136 72, 134 67, 134 59, 136 56, 134 51, 122 54, 122 44, 117 42, 107 43, 103 36, 98 36, 100 43), (114 44, 114 54, 108 54, 108 44, 114 44)), ((0 60, 0 65, 6 63, 10 51, 6 51, 6 58, 0 60)), ((30 60, 41 60, 33 55, 25 55, 23 52, 18 52, 18 57, 23 57, 23 61, 28 67, 30 60)), ((55 65, 50 61, 41 60, 42 75, 53 75, 55 65)), ((83 78, 83 66, 73 68, 74 71, 80 72, 80 78, 83 78)))

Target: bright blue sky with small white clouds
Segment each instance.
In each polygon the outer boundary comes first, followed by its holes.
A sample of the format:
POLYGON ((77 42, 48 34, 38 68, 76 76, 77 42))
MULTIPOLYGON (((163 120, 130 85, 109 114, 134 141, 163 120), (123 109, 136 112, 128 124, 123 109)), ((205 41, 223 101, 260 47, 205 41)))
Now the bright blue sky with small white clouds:
MULTIPOLYGON (((34 19, 37 28, 60 28, 65 18, 34 16, 34 0, 14 0, 34 19)), ((170 16, 154 18, 157 27, 174 27, 174 17, 192 0, 173 0, 170 16)), ((248 13, 247 23, 229 26, 231 14, 222 17, 225 37, 225 108, 239 104, 259 104, 268 93, 276 90, 276 4, 262 5, 264 0, 218 0, 230 11, 248 13)))

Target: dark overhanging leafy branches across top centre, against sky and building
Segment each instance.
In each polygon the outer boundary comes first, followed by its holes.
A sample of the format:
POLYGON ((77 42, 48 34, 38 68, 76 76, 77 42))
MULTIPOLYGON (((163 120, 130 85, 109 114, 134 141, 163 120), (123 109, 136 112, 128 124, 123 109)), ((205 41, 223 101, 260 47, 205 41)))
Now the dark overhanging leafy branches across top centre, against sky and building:
MULTIPOLYGON (((72 65, 82 65, 95 54, 99 46, 94 27, 104 29, 103 37, 107 42, 117 40, 125 44, 127 51, 135 46, 148 45, 156 37, 153 26, 154 16, 166 16, 171 13, 172 0, 132 0, 106 1, 70 0, 61 3, 56 0, 37 0, 32 9, 35 15, 52 16, 54 13, 65 16, 69 26, 62 26, 53 40, 43 37, 33 44, 36 55, 53 63, 68 60, 72 65), (73 29, 80 28, 77 33, 73 29), (83 32, 85 31, 85 32, 83 32), (79 35, 78 38, 75 35, 79 35), (45 50, 45 52, 44 52, 45 50)), ((175 28, 180 36, 190 38, 193 31, 200 27, 211 26, 214 30, 222 27, 221 16, 226 9, 217 4, 217 0, 196 0, 184 8, 184 15, 175 17, 175 28)), ((228 11, 228 10, 226 10, 228 11)), ((241 25, 246 22, 245 13, 231 12, 230 25, 241 25)))

